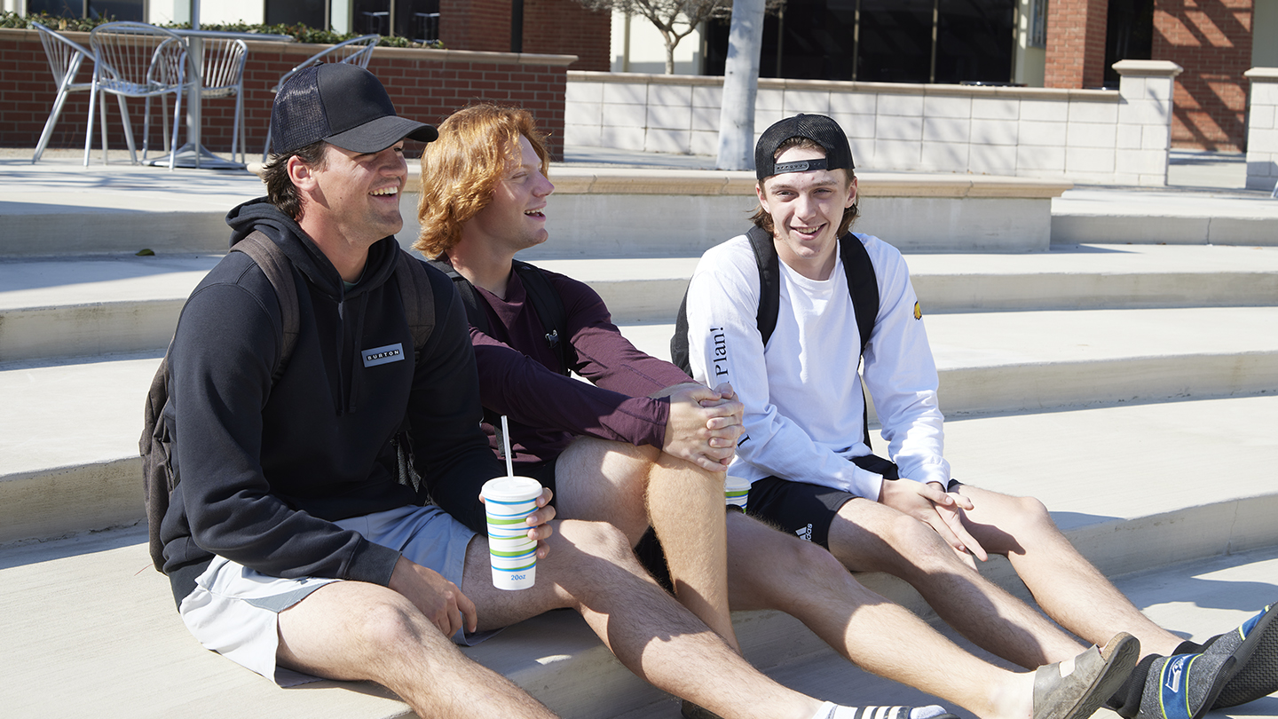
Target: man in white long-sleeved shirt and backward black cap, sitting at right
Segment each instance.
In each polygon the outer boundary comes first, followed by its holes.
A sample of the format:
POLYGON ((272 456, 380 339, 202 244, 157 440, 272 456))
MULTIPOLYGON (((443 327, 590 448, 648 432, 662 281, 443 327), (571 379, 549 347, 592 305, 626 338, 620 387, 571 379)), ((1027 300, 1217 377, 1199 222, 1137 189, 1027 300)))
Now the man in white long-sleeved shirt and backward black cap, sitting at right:
POLYGON ((1278 688, 1278 612, 1266 608, 1205 649, 1181 642, 1091 567, 1040 503, 951 478, 920 306, 901 253, 847 232, 858 187, 835 120, 776 123, 759 138, 755 168, 754 237, 705 252, 686 299, 693 376, 731 381, 745 404, 730 472, 751 481, 749 513, 849 569, 905 578, 964 636, 1022 667, 1077 654, 1071 636, 975 569, 973 557, 1007 555, 1066 629, 1091 642, 1116 632, 1140 640, 1146 656, 1111 700, 1125 716, 1196 718, 1278 688), (854 297, 877 299, 877 311, 854 297), (858 357, 860 374, 850 371, 858 357), (891 462, 870 454, 863 379, 891 462))

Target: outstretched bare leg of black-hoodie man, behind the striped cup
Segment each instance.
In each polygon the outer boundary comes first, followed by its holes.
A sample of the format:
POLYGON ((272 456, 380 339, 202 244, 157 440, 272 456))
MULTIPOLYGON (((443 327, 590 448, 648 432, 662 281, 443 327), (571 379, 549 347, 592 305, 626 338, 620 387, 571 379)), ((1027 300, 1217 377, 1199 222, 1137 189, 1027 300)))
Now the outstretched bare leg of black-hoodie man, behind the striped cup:
POLYGON ((486 540, 472 542, 461 589, 475 603, 481 628, 571 606, 631 672, 721 716, 810 719, 820 706, 760 674, 666 594, 615 527, 565 521, 548 544, 537 585, 501 591, 487 578, 486 540))

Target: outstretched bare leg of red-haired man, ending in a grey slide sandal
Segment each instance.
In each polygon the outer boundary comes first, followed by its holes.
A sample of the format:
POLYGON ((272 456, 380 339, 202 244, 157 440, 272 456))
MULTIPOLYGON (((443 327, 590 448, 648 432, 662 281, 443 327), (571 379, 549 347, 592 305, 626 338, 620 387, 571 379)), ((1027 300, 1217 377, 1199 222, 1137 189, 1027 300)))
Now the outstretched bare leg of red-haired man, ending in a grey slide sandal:
POLYGON ((785 612, 866 672, 984 719, 1030 715, 1033 674, 1007 672, 962 651, 904 606, 861 586, 823 548, 737 512, 728 514, 727 539, 732 609, 785 612))

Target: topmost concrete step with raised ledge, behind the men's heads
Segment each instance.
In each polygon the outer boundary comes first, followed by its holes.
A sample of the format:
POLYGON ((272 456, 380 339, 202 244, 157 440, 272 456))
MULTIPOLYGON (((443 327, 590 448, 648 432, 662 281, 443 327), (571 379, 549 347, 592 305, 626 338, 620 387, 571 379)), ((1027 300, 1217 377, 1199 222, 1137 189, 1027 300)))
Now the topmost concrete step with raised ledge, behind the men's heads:
MULTIPOLYGON (((156 171, 70 159, 31 165, 0 159, 0 256, 137 252, 203 253, 226 248, 226 211, 265 194, 247 171, 156 171), (92 233, 86 228, 93 228, 92 233)), ((417 171, 401 202, 401 243, 417 238, 417 171)), ((754 175, 688 169, 579 168, 556 164, 548 200, 558 242, 529 258, 700 255, 722 228, 757 205, 754 175)), ((1070 182, 955 174, 865 173, 864 211, 881 232, 915 249, 1047 249, 1051 201, 1070 182), (944 233, 937 233, 944 226, 944 233)))

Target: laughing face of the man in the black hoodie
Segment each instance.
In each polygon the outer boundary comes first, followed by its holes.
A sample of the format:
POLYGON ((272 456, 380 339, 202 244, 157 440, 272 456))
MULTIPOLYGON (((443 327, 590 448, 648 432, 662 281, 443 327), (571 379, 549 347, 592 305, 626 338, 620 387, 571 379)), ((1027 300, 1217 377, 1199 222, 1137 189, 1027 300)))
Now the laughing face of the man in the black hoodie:
POLYGON ((330 145, 322 166, 298 171, 303 173, 298 187, 309 189, 299 223, 316 241, 340 238, 368 247, 404 226, 399 210, 408 179, 403 142, 366 154, 330 145))

